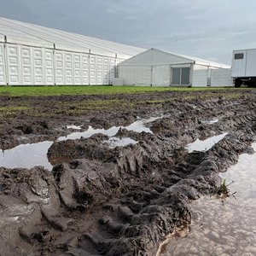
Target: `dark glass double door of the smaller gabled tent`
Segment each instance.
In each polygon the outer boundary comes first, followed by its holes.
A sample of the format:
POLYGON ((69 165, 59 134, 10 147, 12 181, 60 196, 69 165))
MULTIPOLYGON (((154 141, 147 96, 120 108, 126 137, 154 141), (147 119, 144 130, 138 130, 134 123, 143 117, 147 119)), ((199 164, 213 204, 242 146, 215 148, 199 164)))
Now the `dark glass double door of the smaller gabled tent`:
POLYGON ((189 85, 190 67, 172 67, 172 85, 189 85))

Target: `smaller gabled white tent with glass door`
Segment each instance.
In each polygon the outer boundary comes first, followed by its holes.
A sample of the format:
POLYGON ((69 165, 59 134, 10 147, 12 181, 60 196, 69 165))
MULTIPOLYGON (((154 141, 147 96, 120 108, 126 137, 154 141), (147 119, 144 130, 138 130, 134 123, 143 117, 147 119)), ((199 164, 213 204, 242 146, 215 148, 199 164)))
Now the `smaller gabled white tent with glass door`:
POLYGON ((230 66, 159 49, 148 49, 118 64, 125 85, 231 86, 230 66))

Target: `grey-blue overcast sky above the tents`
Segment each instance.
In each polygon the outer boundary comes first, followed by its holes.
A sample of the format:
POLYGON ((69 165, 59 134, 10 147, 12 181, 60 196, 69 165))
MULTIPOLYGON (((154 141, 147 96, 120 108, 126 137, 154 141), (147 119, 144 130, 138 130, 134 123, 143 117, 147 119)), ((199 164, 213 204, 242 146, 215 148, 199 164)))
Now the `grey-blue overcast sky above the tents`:
POLYGON ((0 16, 230 64, 256 48, 255 0, 0 0, 0 16))

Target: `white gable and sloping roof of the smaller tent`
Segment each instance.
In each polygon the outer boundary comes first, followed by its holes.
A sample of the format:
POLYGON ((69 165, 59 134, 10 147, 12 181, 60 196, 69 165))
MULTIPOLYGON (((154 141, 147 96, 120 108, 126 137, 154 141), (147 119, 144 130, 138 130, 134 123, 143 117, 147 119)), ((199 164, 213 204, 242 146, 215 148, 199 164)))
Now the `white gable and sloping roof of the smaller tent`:
POLYGON ((230 68, 229 65, 206 61, 203 59, 187 56, 187 55, 177 55, 172 52, 163 51, 160 49, 148 49, 142 53, 131 57, 128 60, 119 63, 119 66, 135 66, 135 65, 164 65, 164 64, 188 64, 195 63, 203 66, 211 67, 222 67, 230 68))

